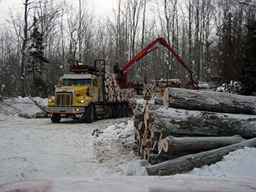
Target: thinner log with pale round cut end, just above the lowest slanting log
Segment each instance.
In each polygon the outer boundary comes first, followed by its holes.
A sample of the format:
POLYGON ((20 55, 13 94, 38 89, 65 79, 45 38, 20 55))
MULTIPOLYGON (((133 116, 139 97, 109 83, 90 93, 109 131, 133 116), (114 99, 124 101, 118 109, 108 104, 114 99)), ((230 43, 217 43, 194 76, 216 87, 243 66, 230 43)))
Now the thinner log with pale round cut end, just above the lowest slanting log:
POLYGON ((243 142, 240 135, 233 137, 166 137, 162 139, 158 154, 166 158, 178 158, 183 155, 200 153, 227 145, 243 142))

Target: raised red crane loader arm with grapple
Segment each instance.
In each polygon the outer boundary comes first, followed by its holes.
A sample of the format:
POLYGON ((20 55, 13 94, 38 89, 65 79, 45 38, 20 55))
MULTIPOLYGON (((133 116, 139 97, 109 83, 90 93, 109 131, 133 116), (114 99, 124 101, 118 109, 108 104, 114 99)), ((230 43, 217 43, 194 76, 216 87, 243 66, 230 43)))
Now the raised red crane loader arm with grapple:
POLYGON ((143 58, 146 54, 150 53, 153 50, 156 50, 158 47, 154 47, 152 48, 154 45, 156 45, 157 43, 160 43, 161 45, 167 47, 168 50, 170 50, 171 53, 173 53, 173 55, 177 58, 178 62, 180 62, 182 64, 182 66, 185 67, 185 69, 187 69, 187 71, 190 74, 190 79, 189 82, 187 82, 187 85, 185 86, 185 88, 190 88, 191 86, 195 89, 199 89, 197 83, 195 82, 195 80, 193 80, 192 77, 192 70, 190 70, 186 64, 184 64, 184 62, 181 60, 181 58, 174 52, 174 50, 170 47, 170 45, 167 44, 167 42, 165 41, 165 39, 162 38, 158 38, 156 40, 154 40, 154 42, 151 42, 150 45, 148 45, 147 47, 145 47, 142 51, 140 51, 140 53, 138 53, 138 55, 136 55, 134 58, 132 58, 131 61, 129 61, 129 63, 123 67, 123 69, 121 69, 121 71, 125 74, 125 77, 121 77, 121 75, 118 75, 117 81, 118 81, 118 85, 120 88, 135 88, 135 84, 133 82, 127 82, 127 76, 128 74, 132 71, 132 69, 135 66, 135 62, 140 61, 141 58, 143 58), (151 49, 152 48, 152 49, 151 49), (131 68, 129 69, 128 72, 126 72, 126 70, 131 66, 131 68))

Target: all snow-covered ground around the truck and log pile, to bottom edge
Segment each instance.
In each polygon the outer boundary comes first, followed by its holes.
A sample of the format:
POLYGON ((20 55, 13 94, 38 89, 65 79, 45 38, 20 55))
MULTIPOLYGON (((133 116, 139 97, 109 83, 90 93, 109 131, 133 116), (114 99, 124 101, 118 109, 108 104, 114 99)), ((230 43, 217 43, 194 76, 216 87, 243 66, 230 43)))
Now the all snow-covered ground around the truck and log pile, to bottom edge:
POLYGON ((256 191, 255 148, 185 174, 149 177, 134 153, 132 118, 51 123, 29 118, 37 112, 29 98, 0 101, 0 191, 256 191))

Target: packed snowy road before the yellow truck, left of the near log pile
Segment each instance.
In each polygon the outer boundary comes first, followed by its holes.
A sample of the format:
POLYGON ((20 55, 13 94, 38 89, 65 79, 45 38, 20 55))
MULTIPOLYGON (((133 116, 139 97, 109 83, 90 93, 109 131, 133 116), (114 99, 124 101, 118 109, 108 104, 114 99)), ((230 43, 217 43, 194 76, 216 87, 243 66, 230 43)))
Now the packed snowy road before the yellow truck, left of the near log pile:
POLYGON ((91 136, 130 118, 79 123, 50 119, 0 121, 0 184, 21 180, 122 174, 130 149, 91 136))

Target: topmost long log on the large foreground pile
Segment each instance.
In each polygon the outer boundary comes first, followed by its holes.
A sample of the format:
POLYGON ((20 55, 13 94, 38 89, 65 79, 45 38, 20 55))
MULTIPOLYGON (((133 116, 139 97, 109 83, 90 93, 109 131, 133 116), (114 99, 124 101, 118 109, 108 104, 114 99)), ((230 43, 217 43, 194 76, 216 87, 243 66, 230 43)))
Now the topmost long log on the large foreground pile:
POLYGON ((167 88, 169 107, 256 115, 256 97, 214 91, 167 88))

